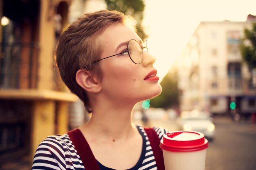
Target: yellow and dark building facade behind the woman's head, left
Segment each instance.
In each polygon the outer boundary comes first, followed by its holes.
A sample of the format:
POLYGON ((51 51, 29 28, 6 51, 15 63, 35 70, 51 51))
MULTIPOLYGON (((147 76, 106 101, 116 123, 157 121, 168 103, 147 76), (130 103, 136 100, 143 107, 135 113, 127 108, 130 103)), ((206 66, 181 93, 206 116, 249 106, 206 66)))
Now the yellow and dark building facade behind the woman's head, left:
POLYGON ((71 94, 54 69, 54 48, 71 0, 0 1, 0 162, 34 156, 68 130, 71 94))

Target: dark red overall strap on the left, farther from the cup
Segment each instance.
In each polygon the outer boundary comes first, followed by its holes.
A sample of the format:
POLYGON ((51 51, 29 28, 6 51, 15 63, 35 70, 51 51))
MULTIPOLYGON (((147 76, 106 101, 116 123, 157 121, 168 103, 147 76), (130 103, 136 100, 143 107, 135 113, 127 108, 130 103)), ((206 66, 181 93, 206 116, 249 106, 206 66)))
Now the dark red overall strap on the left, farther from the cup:
POLYGON ((82 162, 85 170, 100 170, 99 165, 92 154, 92 150, 79 129, 74 129, 67 133, 72 140, 82 162))

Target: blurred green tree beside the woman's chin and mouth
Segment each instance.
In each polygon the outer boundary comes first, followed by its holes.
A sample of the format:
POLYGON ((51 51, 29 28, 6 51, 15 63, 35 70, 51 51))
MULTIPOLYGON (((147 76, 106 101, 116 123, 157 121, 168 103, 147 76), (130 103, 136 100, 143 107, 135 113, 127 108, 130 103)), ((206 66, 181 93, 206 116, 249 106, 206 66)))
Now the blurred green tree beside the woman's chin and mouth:
POLYGON ((151 99, 150 107, 161 107, 164 109, 179 107, 179 90, 177 84, 177 70, 170 70, 160 83, 162 86, 162 93, 151 99))

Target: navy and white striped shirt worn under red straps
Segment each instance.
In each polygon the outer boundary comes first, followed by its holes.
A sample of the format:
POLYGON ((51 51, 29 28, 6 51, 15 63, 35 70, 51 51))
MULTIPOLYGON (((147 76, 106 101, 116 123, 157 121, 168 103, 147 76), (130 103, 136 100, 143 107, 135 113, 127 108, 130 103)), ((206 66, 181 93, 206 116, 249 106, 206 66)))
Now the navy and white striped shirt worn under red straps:
MULTIPOLYGON (((137 125, 143 138, 143 147, 139 161, 129 170, 157 170, 155 157, 144 127, 137 125)), ((159 139, 167 133, 167 129, 154 127, 159 139)), ((102 165, 101 170, 113 170, 102 165)), ((85 170, 79 154, 74 148, 69 135, 52 135, 41 142, 36 150, 32 170, 85 170)))

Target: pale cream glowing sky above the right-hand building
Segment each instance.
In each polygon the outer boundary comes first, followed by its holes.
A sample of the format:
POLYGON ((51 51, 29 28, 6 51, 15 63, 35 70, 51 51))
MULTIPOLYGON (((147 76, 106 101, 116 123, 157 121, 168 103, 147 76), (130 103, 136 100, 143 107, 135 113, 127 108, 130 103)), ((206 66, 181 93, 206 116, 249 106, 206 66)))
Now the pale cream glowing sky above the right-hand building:
POLYGON ((246 21, 256 0, 144 0, 144 28, 160 80, 180 56, 201 21, 246 21))

